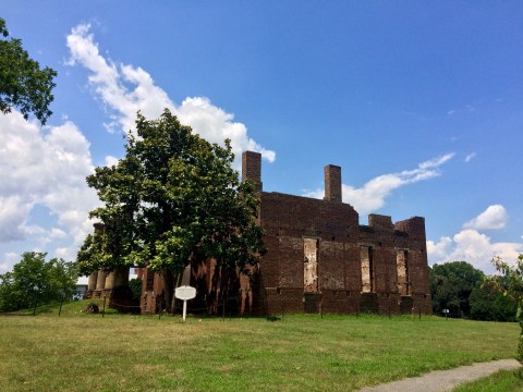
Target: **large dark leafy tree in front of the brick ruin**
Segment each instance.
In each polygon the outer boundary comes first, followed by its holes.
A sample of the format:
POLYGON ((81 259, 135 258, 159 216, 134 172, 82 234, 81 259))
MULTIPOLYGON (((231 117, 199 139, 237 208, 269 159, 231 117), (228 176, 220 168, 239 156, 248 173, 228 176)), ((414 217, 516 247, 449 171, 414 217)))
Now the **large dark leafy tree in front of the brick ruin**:
POLYGON ((105 229, 78 253, 83 273, 147 266, 163 275, 171 304, 177 277, 188 264, 212 259, 226 290, 233 272, 257 264, 265 252, 259 199, 232 168, 229 140, 210 144, 166 110, 151 121, 138 113, 125 150, 115 166, 87 177, 102 201, 90 216, 105 229))

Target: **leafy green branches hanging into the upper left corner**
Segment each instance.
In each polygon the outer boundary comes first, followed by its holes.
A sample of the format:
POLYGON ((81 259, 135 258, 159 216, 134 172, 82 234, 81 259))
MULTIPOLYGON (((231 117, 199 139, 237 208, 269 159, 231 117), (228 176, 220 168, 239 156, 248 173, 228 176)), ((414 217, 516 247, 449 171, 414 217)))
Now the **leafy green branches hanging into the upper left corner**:
POLYGON ((4 38, 0 39, 0 111, 9 113, 16 107, 25 120, 33 113, 45 124, 52 114, 49 105, 57 72, 48 66, 41 70, 22 48, 21 39, 7 39, 9 32, 3 19, 0 19, 0 36, 4 38))

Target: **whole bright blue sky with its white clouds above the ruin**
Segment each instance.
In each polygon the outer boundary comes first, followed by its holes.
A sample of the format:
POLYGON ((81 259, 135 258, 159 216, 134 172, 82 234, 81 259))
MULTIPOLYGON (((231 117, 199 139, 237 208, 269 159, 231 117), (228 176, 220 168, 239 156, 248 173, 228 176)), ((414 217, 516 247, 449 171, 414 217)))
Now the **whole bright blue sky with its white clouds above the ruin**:
POLYGON ((0 115, 0 273, 73 260, 85 176, 136 110, 264 156, 264 189, 426 218, 429 264, 523 253, 521 1, 11 1, 0 17, 58 71, 47 126, 0 115))

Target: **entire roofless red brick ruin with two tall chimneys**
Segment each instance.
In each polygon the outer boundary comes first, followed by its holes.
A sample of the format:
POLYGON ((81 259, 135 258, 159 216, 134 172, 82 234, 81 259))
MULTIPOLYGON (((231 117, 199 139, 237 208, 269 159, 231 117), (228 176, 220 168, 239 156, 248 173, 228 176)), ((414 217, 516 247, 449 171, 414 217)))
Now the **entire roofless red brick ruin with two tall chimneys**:
MULTIPOLYGON (((234 292, 228 293, 228 311, 431 314, 424 218, 392 223, 388 216, 369 215, 368 224, 360 224, 358 213, 342 203, 341 168, 332 164, 325 167, 323 200, 264 192, 257 152, 242 156, 246 179, 259 193, 258 222, 268 252, 251 279, 238 277, 234 292)), ((198 297, 218 297, 211 292, 212 273, 212 262, 192 271, 198 294, 188 302, 190 311, 202 309, 198 297)), ((142 313, 158 311, 162 278, 147 268, 138 275, 142 313)), ((206 310, 219 313, 219 306, 206 310)))

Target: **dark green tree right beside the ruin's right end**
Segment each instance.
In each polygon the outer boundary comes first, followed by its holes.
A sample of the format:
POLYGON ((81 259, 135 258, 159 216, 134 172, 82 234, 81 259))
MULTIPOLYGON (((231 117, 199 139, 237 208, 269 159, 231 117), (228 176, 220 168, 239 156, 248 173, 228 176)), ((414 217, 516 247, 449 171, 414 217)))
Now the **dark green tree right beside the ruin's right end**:
POLYGON ((484 280, 485 274, 465 261, 435 265, 430 269, 433 311, 441 315, 449 309, 452 317, 470 317, 469 297, 484 280))

